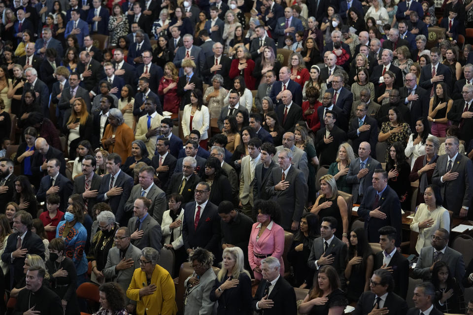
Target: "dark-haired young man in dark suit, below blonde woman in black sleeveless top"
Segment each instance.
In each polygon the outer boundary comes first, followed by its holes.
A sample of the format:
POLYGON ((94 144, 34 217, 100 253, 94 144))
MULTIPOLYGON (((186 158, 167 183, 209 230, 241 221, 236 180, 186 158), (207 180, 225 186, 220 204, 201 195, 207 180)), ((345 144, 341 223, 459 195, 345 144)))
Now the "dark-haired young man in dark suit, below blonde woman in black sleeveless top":
MULTIPOLYGON (((345 279, 345 259, 348 250, 346 244, 334 235, 338 224, 341 222, 337 222, 334 217, 324 217, 321 220, 320 237, 314 240, 310 248, 307 265, 315 270, 319 270, 324 265, 331 265, 337 270, 340 280, 343 281, 345 279)), ((316 281, 316 278, 314 281, 316 281)))

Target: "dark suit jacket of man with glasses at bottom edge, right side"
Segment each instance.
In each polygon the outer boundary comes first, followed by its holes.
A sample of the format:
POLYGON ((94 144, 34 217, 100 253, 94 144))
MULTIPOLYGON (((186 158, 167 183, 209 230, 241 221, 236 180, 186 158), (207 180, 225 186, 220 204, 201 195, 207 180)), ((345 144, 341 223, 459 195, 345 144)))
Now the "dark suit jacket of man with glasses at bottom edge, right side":
MULTIPOLYGON (((373 309, 375 296, 376 294, 372 291, 363 292, 358 299, 355 310, 351 312, 351 315, 368 315, 373 309)), ((405 315, 407 312, 407 303, 394 292, 388 293, 383 307, 388 308, 390 315, 405 315)))

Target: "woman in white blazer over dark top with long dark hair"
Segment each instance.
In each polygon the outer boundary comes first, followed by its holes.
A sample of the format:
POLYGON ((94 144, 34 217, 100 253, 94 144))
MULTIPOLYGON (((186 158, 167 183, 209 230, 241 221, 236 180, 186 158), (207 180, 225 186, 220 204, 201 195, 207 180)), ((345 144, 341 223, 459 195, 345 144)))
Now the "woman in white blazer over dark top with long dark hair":
POLYGON ((199 145, 207 148, 207 129, 210 126, 208 107, 203 105, 201 90, 192 90, 190 98, 191 103, 184 106, 184 113, 182 114, 182 132, 187 139, 192 130, 199 130, 201 133, 199 145))

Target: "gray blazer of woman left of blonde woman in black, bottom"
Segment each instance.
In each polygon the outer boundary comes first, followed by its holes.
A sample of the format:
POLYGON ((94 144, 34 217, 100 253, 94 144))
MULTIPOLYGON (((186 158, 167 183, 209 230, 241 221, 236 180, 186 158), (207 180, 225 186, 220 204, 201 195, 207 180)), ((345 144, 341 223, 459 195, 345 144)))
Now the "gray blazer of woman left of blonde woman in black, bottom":
MULTIPOLYGON (((187 287, 187 282, 192 277, 196 277, 194 272, 184 282, 184 286, 187 287)), ((215 272, 212 268, 208 268, 207 271, 199 279, 199 284, 194 285, 187 292, 186 303, 184 306, 184 315, 195 315, 195 314, 215 314, 215 302, 210 301, 210 291, 212 291, 213 284, 215 282, 215 272)))

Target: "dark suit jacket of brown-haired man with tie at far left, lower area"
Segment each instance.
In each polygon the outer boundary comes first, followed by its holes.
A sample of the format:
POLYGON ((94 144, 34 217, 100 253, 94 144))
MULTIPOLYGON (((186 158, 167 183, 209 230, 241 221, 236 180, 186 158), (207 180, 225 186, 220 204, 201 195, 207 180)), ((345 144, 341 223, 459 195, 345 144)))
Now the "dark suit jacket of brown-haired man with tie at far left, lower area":
MULTIPOLYGON (((26 257, 18 257, 11 261, 11 253, 16 251, 16 242, 18 236, 20 236, 19 232, 10 234, 6 241, 6 247, 1 254, 1 260, 4 263, 10 264, 10 284, 16 284, 25 277, 25 274, 23 273, 23 266, 25 265, 26 257)), ((41 256, 41 258, 44 258, 43 241, 36 233, 33 233, 31 230, 26 232, 23 242, 21 243, 21 248, 28 249, 29 254, 36 254, 41 256)))

